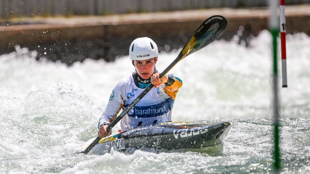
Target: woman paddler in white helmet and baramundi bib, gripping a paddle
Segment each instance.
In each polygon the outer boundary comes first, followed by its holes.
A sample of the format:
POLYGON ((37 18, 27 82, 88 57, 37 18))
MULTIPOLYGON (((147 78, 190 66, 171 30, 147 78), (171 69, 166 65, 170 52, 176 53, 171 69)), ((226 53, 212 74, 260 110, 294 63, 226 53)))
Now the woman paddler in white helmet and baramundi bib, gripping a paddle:
POLYGON ((112 131, 107 132, 106 129, 117 113, 131 104, 150 83, 155 85, 154 88, 122 118, 121 131, 171 121, 171 110, 182 81, 173 74, 159 78, 160 72, 155 67, 157 45, 148 37, 135 39, 130 45, 129 56, 135 72, 118 81, 114 87, 98 123, 100 138, 111 135, 112 131))

